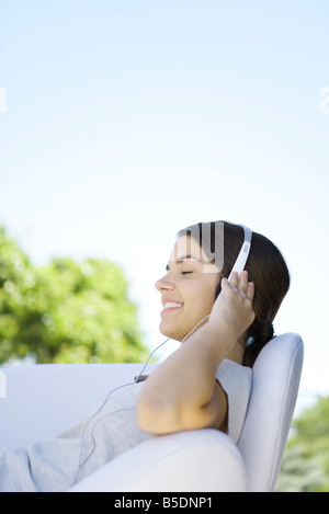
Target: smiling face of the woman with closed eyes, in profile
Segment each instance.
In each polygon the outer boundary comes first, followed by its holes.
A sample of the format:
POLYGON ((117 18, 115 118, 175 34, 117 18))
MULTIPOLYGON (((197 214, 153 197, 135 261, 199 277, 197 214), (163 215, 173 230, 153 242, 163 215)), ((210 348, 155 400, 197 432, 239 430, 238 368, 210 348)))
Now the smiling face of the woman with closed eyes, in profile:
POLYGON ((163 307, 160 332, 182 341, 211 313, 218 282, 219 270, 209 264, 200 244, 191 237, 179 238, 167 274, 156 283, 163 307))

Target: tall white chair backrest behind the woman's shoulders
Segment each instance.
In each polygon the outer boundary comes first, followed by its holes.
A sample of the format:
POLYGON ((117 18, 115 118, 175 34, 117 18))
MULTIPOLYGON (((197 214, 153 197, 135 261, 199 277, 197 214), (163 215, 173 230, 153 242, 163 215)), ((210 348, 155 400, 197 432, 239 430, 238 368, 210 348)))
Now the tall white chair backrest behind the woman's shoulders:
POLYGON ((300 335, 270 341, 253 365, 253 386, 238 443, 248 491, 274 491, 296 406, 304 359, 300 335))

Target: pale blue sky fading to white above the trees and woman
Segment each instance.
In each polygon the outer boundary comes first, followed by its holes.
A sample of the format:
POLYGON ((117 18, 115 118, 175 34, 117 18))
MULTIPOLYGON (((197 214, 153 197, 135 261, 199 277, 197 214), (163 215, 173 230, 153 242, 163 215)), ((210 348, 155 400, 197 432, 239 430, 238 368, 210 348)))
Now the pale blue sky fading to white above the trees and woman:
POLYGON ((328 392, 328 49, 326 0, 0 0, 0 222, 36 264, 122 264, 150 347, 177 230, 250 226, 328 392))

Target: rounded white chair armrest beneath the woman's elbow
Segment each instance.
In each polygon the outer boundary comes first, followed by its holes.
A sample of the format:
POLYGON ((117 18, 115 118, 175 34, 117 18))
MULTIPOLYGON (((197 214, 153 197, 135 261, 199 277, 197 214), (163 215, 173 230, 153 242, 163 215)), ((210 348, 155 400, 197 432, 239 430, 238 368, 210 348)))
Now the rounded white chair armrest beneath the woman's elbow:
POLYGON ((205 429, 152 437, 103 466, 69 492, 243 492, 242 457, 232 441, 205 429))

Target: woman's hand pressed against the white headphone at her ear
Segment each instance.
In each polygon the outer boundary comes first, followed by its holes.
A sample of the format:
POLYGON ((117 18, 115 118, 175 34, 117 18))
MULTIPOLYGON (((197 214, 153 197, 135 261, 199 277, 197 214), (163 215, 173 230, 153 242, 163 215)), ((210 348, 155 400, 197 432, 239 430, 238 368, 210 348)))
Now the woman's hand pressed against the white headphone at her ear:
POLYGON ((216 329, 223 321, 232 330, 237 341, 254 320, 252 301, 254 286, 248 282, 248 272, 243 271, 240 277, 232 274, 230 282, 222 279, 222 292, 218 295, 208 320, 211 327, 216 329))

